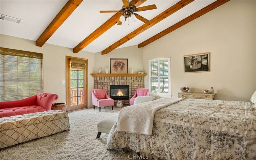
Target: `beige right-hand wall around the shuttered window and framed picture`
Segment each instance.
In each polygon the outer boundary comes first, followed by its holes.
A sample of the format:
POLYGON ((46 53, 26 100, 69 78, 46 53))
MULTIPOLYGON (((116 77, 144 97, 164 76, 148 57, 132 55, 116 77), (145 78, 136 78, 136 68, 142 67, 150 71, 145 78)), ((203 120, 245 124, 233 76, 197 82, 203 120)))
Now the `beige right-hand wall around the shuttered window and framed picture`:
MULTIPOLYGON (((249 101, 256 90, 256 1, 230 1, 143 47, 148 60, 171 57, 172 95, 180 87, 202 92, 213 87, 217 100, 249 101), (211 52, 211 72, 184 73, 183 55, 211 52)), ((148 87, 148 76, 145 78, 148 87)))

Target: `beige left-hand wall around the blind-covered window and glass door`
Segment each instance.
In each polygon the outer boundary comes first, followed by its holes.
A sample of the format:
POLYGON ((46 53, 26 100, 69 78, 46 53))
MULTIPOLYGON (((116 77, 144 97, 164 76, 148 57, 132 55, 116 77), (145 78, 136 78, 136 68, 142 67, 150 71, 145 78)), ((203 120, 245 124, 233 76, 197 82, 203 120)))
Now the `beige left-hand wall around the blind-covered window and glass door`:
POLYGON ((43 53, 44 69, 44 92, 56 93, 59 99, 54 102, 66 102, 66 56, 80 57, 88 59, 88 103, 92 107, 93 78, 90 75, 94 66, 94 55, 91 52, 81 51, 77 54, 72 52, 71 48, 61 47, 52 44, 44 44, 43 47, 37 47, 35 41, 17 38, 13 36, 0 35, 0 46, 24 51, 43 53))

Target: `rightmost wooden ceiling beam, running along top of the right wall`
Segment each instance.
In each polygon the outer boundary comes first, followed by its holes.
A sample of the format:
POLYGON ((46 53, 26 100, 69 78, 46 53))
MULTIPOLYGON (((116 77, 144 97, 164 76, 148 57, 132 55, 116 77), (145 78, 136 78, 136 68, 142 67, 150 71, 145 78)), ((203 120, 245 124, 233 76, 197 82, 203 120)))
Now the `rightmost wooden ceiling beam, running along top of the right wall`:
POLYGON ((195 12, 194 14, 191 14, 190 16, 188 16, 187 18, 177 22, 176 24, 172 25, 171 27, 163 30, 162 32, 156 34, 155 36, 152 36, 151 38, 147 39, 146 41, 140 43, 138 45, 138 47, 144 47, 154 41, 156 41, 157 39, 167 35, 168 33, 171 33, 172 31, 180 28, 181 26, 184 26, 185 24, 191 22, 192 20, 195 20, 196 18, 214 10, 215 8, 219 7, 222 4, 227 3, 229 0, 217 0, 215 2, 213 2, 212 4, 209 4, 208 6, 204 7, 203 9, 195 12))

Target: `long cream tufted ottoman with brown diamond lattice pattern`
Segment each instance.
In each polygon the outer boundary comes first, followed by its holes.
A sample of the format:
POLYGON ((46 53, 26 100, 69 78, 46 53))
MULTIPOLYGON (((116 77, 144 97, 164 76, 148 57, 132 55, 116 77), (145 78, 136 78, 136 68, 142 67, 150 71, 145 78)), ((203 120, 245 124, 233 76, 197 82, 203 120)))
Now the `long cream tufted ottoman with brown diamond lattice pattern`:
POLYGON ((68 113, 60 110, 0 118, 0 148, 69 130, 68 113))

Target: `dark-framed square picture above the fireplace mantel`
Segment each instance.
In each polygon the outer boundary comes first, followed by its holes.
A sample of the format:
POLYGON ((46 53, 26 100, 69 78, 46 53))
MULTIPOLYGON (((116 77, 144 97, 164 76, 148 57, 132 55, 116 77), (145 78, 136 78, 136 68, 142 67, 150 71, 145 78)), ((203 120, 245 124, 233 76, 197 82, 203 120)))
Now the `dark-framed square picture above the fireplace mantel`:
POLYGON ((110 73, 128 73, 128 59, 110 58, 110 73))

